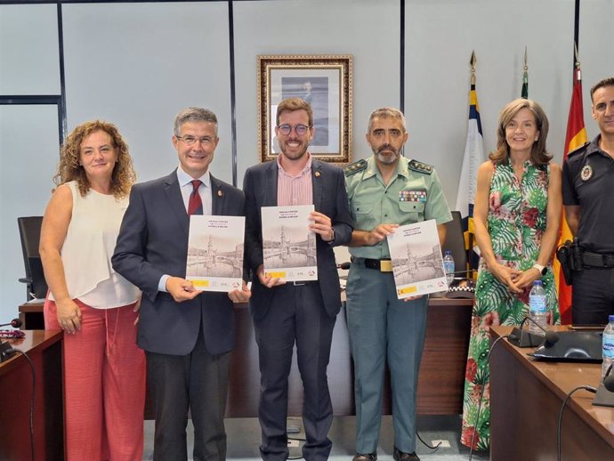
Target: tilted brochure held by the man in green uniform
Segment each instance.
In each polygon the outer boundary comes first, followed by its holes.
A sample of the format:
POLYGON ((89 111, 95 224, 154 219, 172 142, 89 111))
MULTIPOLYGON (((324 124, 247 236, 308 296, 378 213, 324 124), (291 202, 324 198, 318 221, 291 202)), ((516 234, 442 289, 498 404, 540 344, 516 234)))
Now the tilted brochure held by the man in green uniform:
POLYGON ((399 299, 448 289, 434 219, 398 227, 388 247, 399 299))

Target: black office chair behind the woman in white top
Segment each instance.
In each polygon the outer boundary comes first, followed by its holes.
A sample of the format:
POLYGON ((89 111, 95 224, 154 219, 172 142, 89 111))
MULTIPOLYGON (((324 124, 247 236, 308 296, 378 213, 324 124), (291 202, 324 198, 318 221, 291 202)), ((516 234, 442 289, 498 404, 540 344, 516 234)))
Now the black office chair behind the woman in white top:
POLYGON ((19 279, 26 284, 26 301, 31 298, 42 299, 47 295, 47 282, 44 279, 43 263, 38 253, 41 239, 43 216, 22 216, 17 218, 20 229, 21 252, 26 277, 19 279))

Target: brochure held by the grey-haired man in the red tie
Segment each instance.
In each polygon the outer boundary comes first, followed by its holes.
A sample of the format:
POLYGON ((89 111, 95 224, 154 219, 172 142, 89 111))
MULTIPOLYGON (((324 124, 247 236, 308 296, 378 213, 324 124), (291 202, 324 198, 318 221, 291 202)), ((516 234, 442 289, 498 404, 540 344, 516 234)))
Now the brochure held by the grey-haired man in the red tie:
POLYGON ((244 216, 190 216, 186 279, 201 291, 241 287, 244 216))

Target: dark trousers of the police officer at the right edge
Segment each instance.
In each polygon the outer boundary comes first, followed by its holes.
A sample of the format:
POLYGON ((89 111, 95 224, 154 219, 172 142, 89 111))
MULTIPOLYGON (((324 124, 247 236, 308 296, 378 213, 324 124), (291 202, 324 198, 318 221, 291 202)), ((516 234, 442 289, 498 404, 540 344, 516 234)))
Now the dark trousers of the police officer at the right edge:
POLYGON ((571 291, 574 325, 605 325, 614 314, 614 268, 574 271, 571 291))

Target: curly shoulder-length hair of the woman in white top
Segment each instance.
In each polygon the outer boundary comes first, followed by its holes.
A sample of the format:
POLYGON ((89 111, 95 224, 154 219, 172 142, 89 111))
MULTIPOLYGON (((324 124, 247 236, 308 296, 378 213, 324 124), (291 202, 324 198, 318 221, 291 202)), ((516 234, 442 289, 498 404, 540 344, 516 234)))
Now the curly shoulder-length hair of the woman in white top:
POLYGON ((111 190, 116 198, 125 198, 136 181, 133 159, 128 152, 128 145, 117 131, 117 126, 102 120, 91 120, 77 125, 69 134, 61 146, 60 163, 53 182, 59 186, 66 182, 77 181, 81 196, 87 194, 87 191, 90 190, 90 183, 87 180, 85 168, 80 165, 80 149, 85 138, 97 131, 109 134, 113 148, 117 151, 117 162, 111 174, 111 190))

